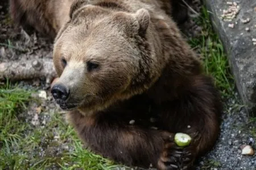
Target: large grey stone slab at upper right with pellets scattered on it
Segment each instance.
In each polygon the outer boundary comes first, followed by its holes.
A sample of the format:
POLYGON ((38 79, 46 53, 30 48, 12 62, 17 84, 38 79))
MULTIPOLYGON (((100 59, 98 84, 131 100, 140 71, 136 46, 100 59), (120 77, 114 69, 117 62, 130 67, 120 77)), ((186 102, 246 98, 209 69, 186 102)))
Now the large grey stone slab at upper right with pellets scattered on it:
POLYGON ((249 115, 255 116, 256 43, 254 43, 252 39, 256 38, 256 29, 254 28, 256 24, 256 11, 254 10, 256 1, 236 1, 236 4, 233 3, 233 5, 231 3, 228 5, 226 1, 223 0, 204 1, 207 9, 211 12, 210 17, 213 27, 220 36, 225 51, 228 54, 230 67, 246 111, 249 115), (233 18, 234 15, 232 15, 230 20, 224 20, 224 12, 225 15, 230 11, 232 12, 232 10, 229 11, 230 8, 235 12, 236 9, 239 9, 239 12, 236 13, 236 17, 233 18), (232 23, 236 24, 233 28, 230 28, 229 26, 232 23), (250 31, 246 31, 248 28, 250 31))

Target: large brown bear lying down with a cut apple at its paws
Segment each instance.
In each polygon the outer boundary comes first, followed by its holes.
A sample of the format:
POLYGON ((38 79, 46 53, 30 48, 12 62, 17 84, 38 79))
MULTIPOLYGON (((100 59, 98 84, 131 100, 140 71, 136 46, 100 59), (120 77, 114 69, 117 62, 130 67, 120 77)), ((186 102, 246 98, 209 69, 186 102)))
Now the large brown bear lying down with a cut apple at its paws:
MULTIPOLYGON (((222 103, 212 78, 203 74, 167 14, 171 3, 67 2, 68 16, 53 14, 48 26, 38 30, 53 30, 53 61, 60 79, 51 92, 69 111, 80 138, 117 163, 191 169, 216 142, 222 103), (178 147, 176 132, 189 134, 191 144, 178 147)), ((63 13, 60 6, 52 13, 63 13)))

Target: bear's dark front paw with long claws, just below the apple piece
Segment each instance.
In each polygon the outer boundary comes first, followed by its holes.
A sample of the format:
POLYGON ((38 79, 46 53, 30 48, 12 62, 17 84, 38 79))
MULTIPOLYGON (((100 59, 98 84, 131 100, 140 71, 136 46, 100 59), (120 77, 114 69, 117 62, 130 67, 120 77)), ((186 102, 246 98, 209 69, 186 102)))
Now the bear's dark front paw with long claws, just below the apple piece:
POLYGON ((158 160, 158 168, 161 170, 192 168, 193 160, 195 160, 195 147, 179 147, 174 142, 174 134, 165 133, 164 148, 158 160))

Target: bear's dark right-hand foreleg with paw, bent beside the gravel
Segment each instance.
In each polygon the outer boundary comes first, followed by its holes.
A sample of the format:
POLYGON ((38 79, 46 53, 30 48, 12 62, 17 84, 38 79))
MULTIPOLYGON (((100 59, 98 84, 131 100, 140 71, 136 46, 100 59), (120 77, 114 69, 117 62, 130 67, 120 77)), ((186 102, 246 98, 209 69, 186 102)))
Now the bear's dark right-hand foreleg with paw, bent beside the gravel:
MULTIPOLYGON (((164 143, 158 165, 161 169, 191 169, 197 156, 209 151, 217 140, 222 113, 221 98, 207 76, 195 76, 179 99, 168 103, 163 115, 170 131, 192 137, 188 147, 177 147, 174 139, 164 143)), ((162 111, 164 111, 162 110, 162 111)))

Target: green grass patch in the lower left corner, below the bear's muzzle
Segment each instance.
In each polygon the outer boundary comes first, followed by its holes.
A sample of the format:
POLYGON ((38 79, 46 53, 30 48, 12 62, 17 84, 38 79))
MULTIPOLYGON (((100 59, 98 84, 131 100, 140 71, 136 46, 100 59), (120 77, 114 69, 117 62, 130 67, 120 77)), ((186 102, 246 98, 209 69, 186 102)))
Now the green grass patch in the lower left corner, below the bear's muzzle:
POLYGON ((0 92, 0 169, 96 170, 117 166, 85 150, 59 113, 40 113, 51 117, 43 127, 26 123, 22 112, 26 114, 26 103, 34 100, 31 92, 9 84, 0 86, 0 92), (57 140, 56 134, 60 136, 57 140))

